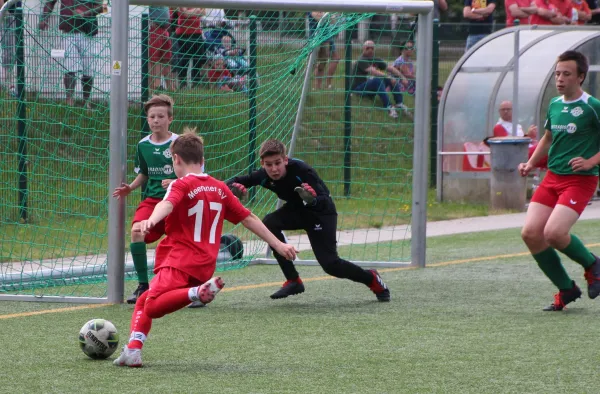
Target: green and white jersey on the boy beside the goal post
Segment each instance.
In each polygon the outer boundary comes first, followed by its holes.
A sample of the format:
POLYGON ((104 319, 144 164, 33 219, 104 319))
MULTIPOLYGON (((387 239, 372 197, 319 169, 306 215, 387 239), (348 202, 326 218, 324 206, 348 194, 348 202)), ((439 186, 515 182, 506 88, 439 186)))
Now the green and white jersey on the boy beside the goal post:
POLYGON ((171 133, 171 138, 165 142, 156 143, 150 136, 142 138, 138 142, 135 155, 135 173, 144 174, 148 177, 146 190, 142 198, 163 198, 166 190, 162 187, 163 179, 175 179, 173 171, 173 159, 169 147, 171 142, 179 137, 171 133))

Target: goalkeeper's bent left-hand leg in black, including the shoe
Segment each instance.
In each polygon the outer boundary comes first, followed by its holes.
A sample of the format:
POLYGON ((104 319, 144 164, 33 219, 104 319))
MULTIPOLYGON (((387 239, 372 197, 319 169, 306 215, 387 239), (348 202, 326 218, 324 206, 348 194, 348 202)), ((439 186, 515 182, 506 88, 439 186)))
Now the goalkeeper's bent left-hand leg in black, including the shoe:
MULTIPOLYGON (((287 208, 286 205, 279 208, 275 212, 271 212, 263 219, 264 225, 279 239, 281 242, 286 242, 283 230, 297 230, 302 228, 302 213, 298 213, 287 208)), ((273 250, 273 256, 279 263, 279 267, 285 276, 285 283, 275 293, 271 294, 271 298, 285 298, 290 295, 300 294, 304 292, 304 284, 300 279, 300 274, 296 271, 293 261, 286 260, 283 256, 273 250)))

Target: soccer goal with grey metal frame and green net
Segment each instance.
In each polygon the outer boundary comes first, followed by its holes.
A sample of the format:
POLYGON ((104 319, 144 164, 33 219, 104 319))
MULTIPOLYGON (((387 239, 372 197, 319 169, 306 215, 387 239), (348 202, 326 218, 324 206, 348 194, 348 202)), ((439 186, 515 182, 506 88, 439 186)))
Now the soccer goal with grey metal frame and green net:
MULTIPOLYGON (((280 139, 327 184, 339 213, 341 257, 372 267, 425 265, 431 1, 111 1, 96 17, 93 48, 79 59, 90 63, 78 69, 70 56, 79 44, 61 31, 60 3, 42 14, 37 2, 8 0, 0 11, 0 22, 10 21, 2 29, 16 38, 12 76, 0 69, 1 82, 14 80, 16 87, 0 89, 0 139, 7 142, 0 144, 7 157, 0 162, 0 300, 123 302, 136 279, 129 220, 141 194, 116 200, 112 191, 135 176, 134 153, 148 133, 142 103, 150 92, 174 98, 174 132, 198 128, 210 175, 225 180, 258 168, 260 143, 280 139), (178 35, 174 16, 166 25, 172 72, 157 78, 152 53, 162 44, 152 36, 157 16, 148 6, 158 5, 227 10, 230 44, 246 51, 245 71, 232 73, 246 85, 225 90, 212 79, 223 60, 214 49, 180 61, 193 40, 178 35), (325 16, 317 21, 308 11, 325 16), (377 97, 354 88, 366 39, 388 66, 416 43, 416 59, 409 56, 412 90, 406 83, 400 99, 395 90, 377 97), (323 68, 329 72, 332 63, 337 71, 321 88, 323 68)), ((195 33, 206 43, 218 30, 209 20, 203 16, 202 32, 195 33)), ((399 88, 394 78, 385 83, 399 88)), ((167 174, 166 167, 156 168, 167 174)), ((273 193, 252 192, 247 205, 255 214, 276 208, 273 193)), ((223 232, 217 271, 265 263, 259 238, 242 226, 226 224, 223 232)), ((302 251, 298 264, 316 263, 304 235, 286 236, 302 251)), ((153 259, 150 245, 149 270, 153 259)))

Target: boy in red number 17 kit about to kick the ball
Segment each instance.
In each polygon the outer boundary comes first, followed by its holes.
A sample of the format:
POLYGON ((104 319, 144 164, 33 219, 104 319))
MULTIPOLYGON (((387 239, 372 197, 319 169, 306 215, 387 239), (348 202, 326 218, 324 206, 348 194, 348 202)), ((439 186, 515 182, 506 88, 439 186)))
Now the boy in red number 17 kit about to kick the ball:
POLYGON ((152 320, 184 308, 190 302, 211 302, 224 286, 216 269, 223 221, 242 223, 277 253, 294 260, 296 248, 279 241, 262 221, 246 209, 224 182, 202 173, 204 143, 194 130, 171 144, 178 179, 148 220, 143 233, 165 219, 167 236, 156 249, 150 289, 137 300, 131 319, 129 343, 114 361, 117 366, 141 367, 142 353, 152 320))

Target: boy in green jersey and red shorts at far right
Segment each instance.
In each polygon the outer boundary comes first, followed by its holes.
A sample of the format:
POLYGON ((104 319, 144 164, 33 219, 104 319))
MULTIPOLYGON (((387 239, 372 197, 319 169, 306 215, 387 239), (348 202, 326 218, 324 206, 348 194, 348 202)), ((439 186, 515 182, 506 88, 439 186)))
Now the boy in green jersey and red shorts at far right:
POLYGON ((557 250, 584 268, 588 296, 600 295, 600 259, 570 234, 598 186, 600 101, 581 88, 588 72, 585 55, 566 51, 558 57, 554 78, 562 96, 550 100, 545 133, 527 163, 526 176, 548 154, 548 173, 527 209, 521 236, 544 274, 558 288, 545 311, 560 311, 581 297, 557 250))

